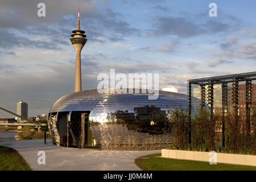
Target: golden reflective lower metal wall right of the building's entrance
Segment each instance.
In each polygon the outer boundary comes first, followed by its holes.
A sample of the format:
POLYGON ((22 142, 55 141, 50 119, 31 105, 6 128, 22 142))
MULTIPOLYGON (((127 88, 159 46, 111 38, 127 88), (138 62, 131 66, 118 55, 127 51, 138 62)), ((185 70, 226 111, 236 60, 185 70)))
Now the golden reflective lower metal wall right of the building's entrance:
POLYGON ((174 142, 166 111, 160 107, 134 107, 133 113, 118 110, 103 116, 90 122, 102 150, 160 150, 174 142))

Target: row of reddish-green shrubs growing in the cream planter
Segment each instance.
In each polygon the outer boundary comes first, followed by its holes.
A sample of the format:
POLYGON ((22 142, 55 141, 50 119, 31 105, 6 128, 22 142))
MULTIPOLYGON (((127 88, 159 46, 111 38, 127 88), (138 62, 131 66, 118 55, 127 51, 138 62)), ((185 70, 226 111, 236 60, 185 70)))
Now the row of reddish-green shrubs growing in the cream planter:
POLYGON ((191 143, 189 143, 189 122, 187 110, 182 106, 168 108, 170 117, 167 125, 174 134, 175 143, 170 149, 193 151, 217 151, 230 154, 255 154, 256 155, 256 108, 251 109, 250 131, 247 127, 246 115, 227 111, 225 119, 226 147, 217 145, 218 135, 216 130, 222 128, 222 113, 213 115, 206 108, 198 110, 191 121, 191 143))

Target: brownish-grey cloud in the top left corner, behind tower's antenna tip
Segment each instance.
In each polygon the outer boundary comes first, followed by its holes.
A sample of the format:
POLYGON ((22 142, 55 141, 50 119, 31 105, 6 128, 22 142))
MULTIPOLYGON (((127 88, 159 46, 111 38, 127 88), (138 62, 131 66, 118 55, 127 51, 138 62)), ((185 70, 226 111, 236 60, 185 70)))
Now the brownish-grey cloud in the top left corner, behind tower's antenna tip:
POLYGON ((2 0, 0 7, 0 24, 5 28, 24 28, 27 26, 41 26, 41 24, 63 23, 59 21, 63 15, 77 15, 77 5, 83 16, 95 16, 95 1, 43 0, 46 5, 46 16, 37 16, 38 1, 30 0, 2 0), (6 18, 8 17, 8 18, 6 18))

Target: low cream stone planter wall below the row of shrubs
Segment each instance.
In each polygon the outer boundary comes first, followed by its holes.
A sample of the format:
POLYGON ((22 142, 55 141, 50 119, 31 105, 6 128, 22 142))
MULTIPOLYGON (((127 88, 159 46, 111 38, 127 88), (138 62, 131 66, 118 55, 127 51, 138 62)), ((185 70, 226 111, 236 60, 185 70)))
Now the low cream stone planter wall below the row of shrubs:
MULTIPOLYGON (((163 158, 209 162, 210 152, 162 149, 163 158)), ((256 155, 217 153, 217 163, 256 166, 256 155)))

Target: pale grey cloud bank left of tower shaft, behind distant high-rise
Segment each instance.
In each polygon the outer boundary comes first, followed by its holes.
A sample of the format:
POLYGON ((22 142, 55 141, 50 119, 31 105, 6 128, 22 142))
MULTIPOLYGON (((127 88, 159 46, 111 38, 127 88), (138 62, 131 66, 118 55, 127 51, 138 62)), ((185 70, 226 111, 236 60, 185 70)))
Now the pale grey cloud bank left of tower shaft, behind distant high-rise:
POLYGON ((5 85, 1 89, 5 96, 1 97, 2 106, 15 112, 15 104, 23 100, 29 103, 29 115, 47 113, 55 100, 73 91, 73 69, 58 65, 54 70, 49 67, 37 74, 23 72, 21 76, 15 72, 5 78, 1 75, 1 85, 5 85))

